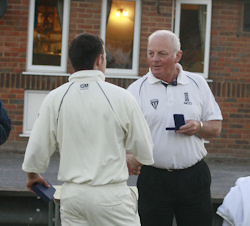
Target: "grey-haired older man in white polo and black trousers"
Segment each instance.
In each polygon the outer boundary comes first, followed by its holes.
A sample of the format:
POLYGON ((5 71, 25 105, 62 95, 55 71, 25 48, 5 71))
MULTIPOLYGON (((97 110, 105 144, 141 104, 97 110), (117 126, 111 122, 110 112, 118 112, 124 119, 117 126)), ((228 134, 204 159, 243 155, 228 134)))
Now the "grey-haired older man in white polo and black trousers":
POLYGON ((184 71, 178 37, 159 30, 148 38, 149 72, 128 90, 135 96, 154 143, 152 166, 137 181, 142 226, 211 226, 211 175, 204 138, 219 136, 222 115, 203 77, 184 71), (174 127, 174 114, 185 125, 174 127))

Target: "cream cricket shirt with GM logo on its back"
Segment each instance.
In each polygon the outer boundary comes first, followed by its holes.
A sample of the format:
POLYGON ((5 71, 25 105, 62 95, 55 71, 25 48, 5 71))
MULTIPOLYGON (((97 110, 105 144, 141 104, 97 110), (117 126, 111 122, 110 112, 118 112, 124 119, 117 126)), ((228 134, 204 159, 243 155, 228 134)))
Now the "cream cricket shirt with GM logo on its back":
POLYGON ((133 96, 104 82, 101 71, 79 71, 45 98, 22 169, 43 173, 58 148, 58 179, 103 185, 128 179, 126 151, 153 163, 152 138, 133 96))

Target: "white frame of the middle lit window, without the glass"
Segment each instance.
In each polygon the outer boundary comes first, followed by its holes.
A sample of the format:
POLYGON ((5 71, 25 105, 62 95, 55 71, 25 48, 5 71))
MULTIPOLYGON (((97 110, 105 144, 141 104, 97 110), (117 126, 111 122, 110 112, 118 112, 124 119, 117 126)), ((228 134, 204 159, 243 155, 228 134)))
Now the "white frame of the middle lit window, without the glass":
MULTIPOLYGON (((113 78, 138 78, 139 54, 140 54, 140 31, 141 31, 141 0, 127 0, 135 2, 135 21, 133 38, 132 69, 107 68, 106 77, 113 78)), ((106 16, 107 0, 102 0, 100 36, 104 43, 106 40, 106 16)))

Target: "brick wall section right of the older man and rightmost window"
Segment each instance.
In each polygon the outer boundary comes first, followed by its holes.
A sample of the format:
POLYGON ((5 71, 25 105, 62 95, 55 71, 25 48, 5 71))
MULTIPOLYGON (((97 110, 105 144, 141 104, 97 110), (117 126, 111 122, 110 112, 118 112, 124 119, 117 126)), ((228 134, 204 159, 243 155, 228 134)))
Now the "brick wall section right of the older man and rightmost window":
POLYGON ((243 32, 244 1, 213 1, 210 78, 223 113, 215 155, 250 158, 250 32, 243 32))

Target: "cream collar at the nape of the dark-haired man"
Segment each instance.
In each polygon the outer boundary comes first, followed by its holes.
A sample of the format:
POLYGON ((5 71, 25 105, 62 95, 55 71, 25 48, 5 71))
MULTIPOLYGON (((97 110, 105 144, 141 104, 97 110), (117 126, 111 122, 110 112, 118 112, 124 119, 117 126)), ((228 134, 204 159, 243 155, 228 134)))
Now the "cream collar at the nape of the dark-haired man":
POLYGON ((77 81, 82 79, 87 82, 104 81, 105 75, 99 70, 82 70, 73 73, 69 77, 69 81, 77 81))

